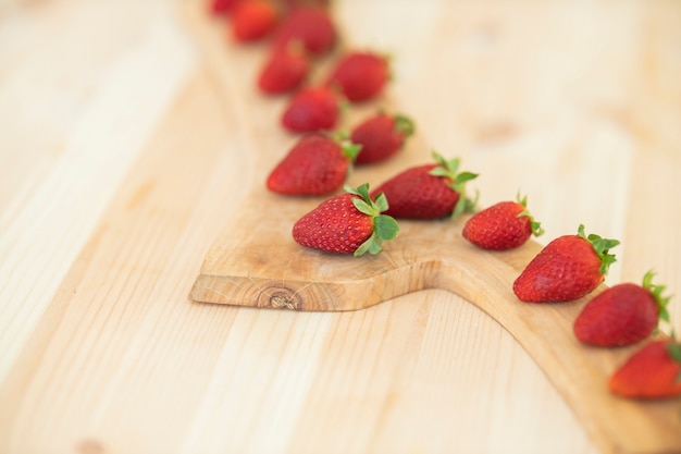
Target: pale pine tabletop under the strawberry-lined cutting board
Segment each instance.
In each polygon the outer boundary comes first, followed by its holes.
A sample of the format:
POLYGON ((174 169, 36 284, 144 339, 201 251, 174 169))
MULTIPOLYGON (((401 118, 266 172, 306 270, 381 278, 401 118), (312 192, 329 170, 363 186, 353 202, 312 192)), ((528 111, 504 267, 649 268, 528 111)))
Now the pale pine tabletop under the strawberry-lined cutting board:
MULTIPOLYGON (((678 293, 680 4, 414 4, 334 12, 394 56, 386 98, 425 147, 480 170, 481 205, 529 194, 540 242, 580 222, 621 240, 608 283, 655 268, 678 293)), ((225 90, 195 7, 0 3, 0 452, 595 453, 645 438, 595 437, 450 292, 340 314, 190 303, 283 106, 248 115, 251 65, 225 90)))

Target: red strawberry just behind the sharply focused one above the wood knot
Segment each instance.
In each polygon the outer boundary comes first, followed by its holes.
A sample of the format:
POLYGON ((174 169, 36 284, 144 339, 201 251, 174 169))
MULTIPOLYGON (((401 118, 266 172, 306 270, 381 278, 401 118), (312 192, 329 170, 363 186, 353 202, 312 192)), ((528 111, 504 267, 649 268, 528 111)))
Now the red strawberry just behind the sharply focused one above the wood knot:
POLYGON ((301 137, 268 177, 268 188, 287 195, 318 196, 340 188, 361 147, 324 134, 301 137))

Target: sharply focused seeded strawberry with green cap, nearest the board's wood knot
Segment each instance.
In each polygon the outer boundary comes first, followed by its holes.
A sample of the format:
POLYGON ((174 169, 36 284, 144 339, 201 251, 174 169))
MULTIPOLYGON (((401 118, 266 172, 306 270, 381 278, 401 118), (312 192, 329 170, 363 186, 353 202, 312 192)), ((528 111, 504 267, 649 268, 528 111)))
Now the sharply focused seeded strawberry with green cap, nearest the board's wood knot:
POLYGON ((383 241, 397 236, 395 219, 381 214, 387 209, 383 194, 369 196, 369 185, 345 186, 347 194, 332 197, 300 218, 294 240, 306 247, 336 254, 379 254, 383 241))

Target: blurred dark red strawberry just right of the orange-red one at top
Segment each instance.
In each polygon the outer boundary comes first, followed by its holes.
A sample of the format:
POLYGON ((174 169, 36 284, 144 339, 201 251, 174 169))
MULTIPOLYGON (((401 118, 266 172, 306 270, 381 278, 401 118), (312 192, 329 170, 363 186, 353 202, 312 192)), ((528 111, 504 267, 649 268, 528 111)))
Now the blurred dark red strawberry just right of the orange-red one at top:
POLYGON ((337 39, 336 27, 329 11, 318 7, 295 7, 284 17, 274 34, 275 47, 299 41, 304 49, 321 56, 330 52, 337 39))

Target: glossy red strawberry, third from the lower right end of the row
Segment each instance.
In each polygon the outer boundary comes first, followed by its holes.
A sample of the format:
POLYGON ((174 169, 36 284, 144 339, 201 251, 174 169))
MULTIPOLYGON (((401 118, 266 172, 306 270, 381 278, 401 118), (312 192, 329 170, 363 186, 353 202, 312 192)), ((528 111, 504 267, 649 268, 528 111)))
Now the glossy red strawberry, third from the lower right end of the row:
POLYGON ((559 236, 548 243, 513 282, 513 293, 523 302, 568 302, 598 286, 615 256, 608 254, 617 240, 584 234, 559 236))

